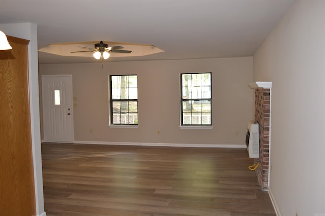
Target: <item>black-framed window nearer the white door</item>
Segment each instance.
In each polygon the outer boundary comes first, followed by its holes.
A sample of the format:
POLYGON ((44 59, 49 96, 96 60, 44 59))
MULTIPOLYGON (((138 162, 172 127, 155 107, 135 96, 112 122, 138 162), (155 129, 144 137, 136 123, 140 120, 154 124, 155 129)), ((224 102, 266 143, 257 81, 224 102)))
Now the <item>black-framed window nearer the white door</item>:
POLYGON ((138 124, 137 75, 110 76, 111 124, 138 124))

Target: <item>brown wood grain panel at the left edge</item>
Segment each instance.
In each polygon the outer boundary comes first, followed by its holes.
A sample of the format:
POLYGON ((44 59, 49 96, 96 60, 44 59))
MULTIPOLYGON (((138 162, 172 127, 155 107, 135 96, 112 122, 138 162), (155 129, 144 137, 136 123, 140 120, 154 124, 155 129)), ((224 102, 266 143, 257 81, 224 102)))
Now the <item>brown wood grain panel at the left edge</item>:
POLYGON ((28 93, 28 40, 0 51, 0 215, 35 215, 28 93))

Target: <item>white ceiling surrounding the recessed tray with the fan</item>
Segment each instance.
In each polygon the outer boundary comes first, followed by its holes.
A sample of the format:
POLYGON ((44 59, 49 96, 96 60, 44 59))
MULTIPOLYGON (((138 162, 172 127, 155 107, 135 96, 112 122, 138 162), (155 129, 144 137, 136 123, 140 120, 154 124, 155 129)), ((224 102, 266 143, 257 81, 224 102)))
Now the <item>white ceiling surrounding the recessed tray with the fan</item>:
MULTIPOLYGON (((38 24, 38 46, 152 44, 165 52, 106 61, 252 56, 295 0, 0 0, 0 23, 38 24)), ((5 32, 6 33, 6 32, 5 32)), ((40 63, 93 62, 39 52, 40 63)))

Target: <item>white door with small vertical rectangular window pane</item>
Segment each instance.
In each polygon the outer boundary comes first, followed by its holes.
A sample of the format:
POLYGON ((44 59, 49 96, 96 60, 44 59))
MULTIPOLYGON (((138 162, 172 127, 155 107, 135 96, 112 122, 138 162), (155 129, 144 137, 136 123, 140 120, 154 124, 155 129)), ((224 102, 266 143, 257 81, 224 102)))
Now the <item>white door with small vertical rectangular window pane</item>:
POLYGON ((42 76, 45 142, 73 142, 72 103, 72 75, 42 76))

